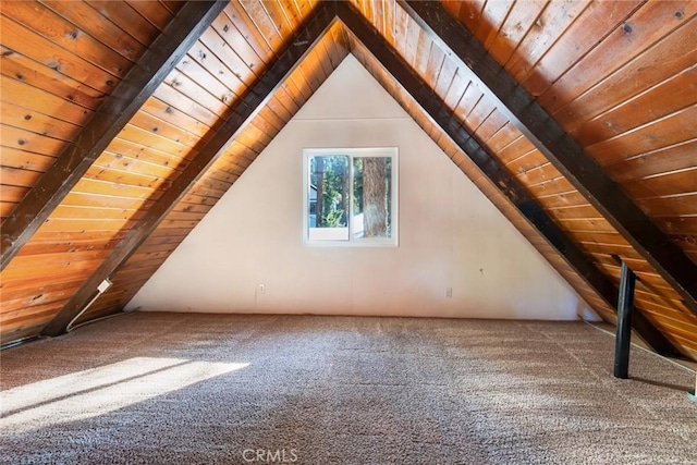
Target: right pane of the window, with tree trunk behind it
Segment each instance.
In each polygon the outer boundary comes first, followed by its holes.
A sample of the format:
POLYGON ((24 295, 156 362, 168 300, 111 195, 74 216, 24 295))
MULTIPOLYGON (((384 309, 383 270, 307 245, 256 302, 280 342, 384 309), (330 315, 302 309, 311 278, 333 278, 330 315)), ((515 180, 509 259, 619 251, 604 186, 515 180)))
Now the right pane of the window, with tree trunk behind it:
POLYGON ((392 159, 355 157, 353 170, 353 236, 391 237, 392 159))

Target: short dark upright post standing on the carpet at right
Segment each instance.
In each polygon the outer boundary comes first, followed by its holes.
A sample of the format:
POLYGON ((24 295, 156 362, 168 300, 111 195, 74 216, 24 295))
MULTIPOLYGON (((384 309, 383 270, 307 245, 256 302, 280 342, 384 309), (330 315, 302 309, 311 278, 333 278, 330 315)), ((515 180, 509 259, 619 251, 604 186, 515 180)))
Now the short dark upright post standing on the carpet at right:
POLYGON ((620 276, 620 296, 617 297, 617 326, 614 340, 614 368, 615 378, 627 379, 629 377, 629 348, 632 345, 632 314, 634 310, 634 284, 636 276, 634 271, 622 262, 620 276))

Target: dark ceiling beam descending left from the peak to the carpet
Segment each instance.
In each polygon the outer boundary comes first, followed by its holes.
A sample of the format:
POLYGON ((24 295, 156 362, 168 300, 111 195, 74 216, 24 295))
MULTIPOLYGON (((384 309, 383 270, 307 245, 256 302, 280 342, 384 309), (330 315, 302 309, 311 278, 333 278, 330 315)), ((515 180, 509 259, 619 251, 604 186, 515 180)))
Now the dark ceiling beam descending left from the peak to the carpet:
POLYGON ((75 294, 68 301, 58 315, 47 325, 42 334, 59 335, 65 332, 65 328, 77 316, 87 303, 94 297, 97 286, 107 278, 112 277, 138 246, 155 231, 160 222, 186 193, 196 184, 196 181, 220 157, 225 148, 245 129, 248 121, 261 110, 276 90, 285 82, 288 76, 303 61, 315 44, 323 36, 335 21, 333 3, 320 3, 316 7, 305 25, 299 27, 288 44, 285 50, 257 79, 249 90, 235 105, 233 112, 221 125, 220 130, 201 148, 199 154, 172 182, 172 185, 148 209, 148 212, 114 247, 113 252, 97 268, 97 270, 83 283, 75 294))

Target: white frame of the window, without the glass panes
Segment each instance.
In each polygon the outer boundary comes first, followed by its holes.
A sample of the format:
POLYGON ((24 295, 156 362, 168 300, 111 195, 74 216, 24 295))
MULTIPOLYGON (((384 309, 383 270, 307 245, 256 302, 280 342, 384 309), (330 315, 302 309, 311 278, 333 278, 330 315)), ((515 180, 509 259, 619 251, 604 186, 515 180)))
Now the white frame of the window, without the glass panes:
POLYGON ((353 148, 306 148, 303 149, 303 242, 306 245, 323 247, 398 247, 399 246, 399 184, 400 163, 398 147, 353 147, 353 148), (392 159, 392 192, 391 198, 391 236, 390 237, 353 237, 351 227, 347 240, 317 240, 309 237, 309 159, 319 156, 347 156, 350 157, 350 185, 352 196, 348 201, 348 223, 353 218, 353 158, 358 157, 389 157, 392 159))

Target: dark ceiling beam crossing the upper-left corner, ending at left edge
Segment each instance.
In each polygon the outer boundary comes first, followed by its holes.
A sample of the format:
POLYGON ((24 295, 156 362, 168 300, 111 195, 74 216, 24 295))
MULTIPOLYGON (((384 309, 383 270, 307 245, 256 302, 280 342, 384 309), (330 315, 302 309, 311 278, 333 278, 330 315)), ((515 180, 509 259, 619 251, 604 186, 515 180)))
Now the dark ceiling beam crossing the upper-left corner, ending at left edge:
POLYGON ((189 1, 2 223, 3 270, 228 4, 189 1))

